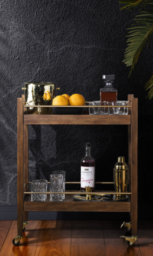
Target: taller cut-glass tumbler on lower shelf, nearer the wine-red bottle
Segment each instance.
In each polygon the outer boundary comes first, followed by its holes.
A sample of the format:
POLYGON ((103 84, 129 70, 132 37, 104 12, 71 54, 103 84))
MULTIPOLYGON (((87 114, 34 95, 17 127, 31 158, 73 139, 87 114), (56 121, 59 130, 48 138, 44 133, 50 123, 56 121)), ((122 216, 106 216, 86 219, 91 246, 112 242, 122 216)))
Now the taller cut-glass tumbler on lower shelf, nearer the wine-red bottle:
MULTIPOLYGON (((50 192, 63 192, 62 174, 50 174, 50 192)), ((50 194, 50 201, 62 200, 62 194, 50 194)))

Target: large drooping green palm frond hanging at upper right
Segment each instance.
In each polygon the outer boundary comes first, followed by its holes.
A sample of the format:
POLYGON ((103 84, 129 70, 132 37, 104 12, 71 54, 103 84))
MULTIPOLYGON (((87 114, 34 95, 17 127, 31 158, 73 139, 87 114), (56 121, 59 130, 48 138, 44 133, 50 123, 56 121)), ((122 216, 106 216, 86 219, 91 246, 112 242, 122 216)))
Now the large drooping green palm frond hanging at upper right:
POLYGON ((128 29, 128 46, 124 52, 123 62, 126 66, 131 66, 130 75, 137 63, 141 51, 149 43, 151 34, 153 33, 153 3, 148 4, 151 9, 140 12, 134 19, 135 23, 128 29))

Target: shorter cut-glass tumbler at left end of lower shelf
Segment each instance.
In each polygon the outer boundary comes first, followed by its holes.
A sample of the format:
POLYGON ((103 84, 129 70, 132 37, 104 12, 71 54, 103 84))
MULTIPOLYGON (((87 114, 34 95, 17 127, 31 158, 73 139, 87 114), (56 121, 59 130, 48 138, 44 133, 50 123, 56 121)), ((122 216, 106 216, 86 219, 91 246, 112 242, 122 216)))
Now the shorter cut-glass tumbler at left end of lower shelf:
MULTIPOLYGON (((47 192, 47 180, 32 180, 31 192, 47 192)), ((31 194, 31 201, 46 201, 47 194, 31 194)))

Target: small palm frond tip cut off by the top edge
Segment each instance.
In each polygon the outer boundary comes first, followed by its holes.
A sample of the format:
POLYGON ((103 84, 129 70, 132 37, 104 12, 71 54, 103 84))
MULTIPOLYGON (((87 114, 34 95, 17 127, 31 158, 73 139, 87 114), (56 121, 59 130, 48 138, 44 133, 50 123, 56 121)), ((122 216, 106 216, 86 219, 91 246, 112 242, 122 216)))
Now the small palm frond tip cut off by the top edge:
POLYGON ((121 0, 120 4, 125 4, 123 7, 121 7, 121 10, 126 9, 126 10, 132 10, 135 7, 139 6, 142 8, 146 4, 150 3, 151 0, 121 0))

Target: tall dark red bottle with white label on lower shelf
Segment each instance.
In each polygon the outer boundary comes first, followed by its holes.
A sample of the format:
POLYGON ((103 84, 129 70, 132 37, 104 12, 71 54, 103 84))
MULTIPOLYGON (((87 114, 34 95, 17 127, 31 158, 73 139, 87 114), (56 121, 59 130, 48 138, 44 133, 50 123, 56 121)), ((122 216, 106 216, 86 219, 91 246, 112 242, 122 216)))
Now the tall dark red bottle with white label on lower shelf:
POLYGON ((91 157, 90 143, 86 143, 86 156, 81 160, 81 190, 86 191, 86 186, 95 191, 95 159, 91 157))

